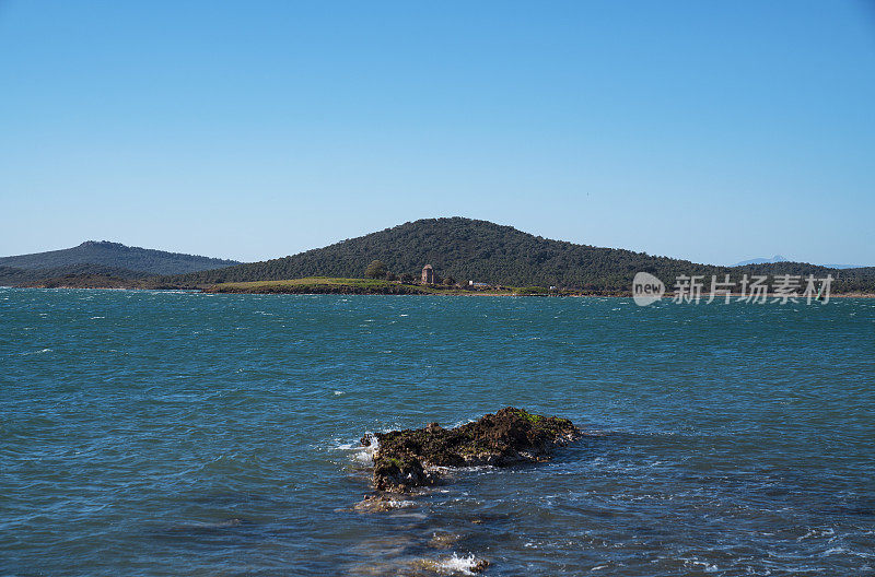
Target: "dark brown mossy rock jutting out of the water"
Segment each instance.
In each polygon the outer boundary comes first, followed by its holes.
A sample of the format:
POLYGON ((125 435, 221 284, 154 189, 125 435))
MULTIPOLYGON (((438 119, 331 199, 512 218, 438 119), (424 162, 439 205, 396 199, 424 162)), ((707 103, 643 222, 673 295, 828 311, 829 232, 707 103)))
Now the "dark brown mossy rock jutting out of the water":
POLYGON ((425 428, 366 436, 362 444, 377 446, 374 488, 402 492, 433 483, 436 467, 546 461, 556 447, 580 435, 568 419, 508 407, 455 428, 430 423, 425 428))

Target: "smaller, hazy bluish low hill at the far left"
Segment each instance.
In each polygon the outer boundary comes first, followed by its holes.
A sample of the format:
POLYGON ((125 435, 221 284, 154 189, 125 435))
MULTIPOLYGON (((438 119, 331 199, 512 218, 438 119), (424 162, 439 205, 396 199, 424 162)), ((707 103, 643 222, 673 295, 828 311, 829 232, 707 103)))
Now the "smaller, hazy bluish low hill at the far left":
POLYGON ((106 240, 89 240, 73 248, 0 258, 0 267, 14 269, 65 269, 92 264, 96 268, 125 269, 141 275, 180 274, 238 264, 224 260, 150 248, 129 247, 106 240))

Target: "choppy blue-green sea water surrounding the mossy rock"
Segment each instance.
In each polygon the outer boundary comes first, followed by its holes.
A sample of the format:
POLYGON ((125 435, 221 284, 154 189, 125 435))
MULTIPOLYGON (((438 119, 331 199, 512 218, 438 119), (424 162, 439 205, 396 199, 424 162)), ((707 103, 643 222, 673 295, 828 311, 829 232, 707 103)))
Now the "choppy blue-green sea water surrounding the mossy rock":
POLYGON ((0 288, 0 575, 875 575, 875 301, 0 288), (383 513, 368 431, 591 435, 383 513))

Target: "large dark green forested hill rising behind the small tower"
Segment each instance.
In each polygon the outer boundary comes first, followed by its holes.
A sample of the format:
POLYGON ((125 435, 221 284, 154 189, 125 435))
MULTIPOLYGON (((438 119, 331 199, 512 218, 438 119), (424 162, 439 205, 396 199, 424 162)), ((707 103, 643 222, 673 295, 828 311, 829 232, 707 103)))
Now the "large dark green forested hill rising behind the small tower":
POLYGON ((361 278, 372 260, 388 271, 419 278, 423 264, 439 276, 513 286, 560 286, 592 290, 629 290, 638 271, 673 284, 679 274, 831 273, 844 291, 875 288, 875 269, 836 270, 798 262, 747 267, 712 267, 631 250, 599 248, 550 240, 470 219, 427 219, 343 240, 299 255, 203 271, 172 279, 183 285, 304 276, 361 278))

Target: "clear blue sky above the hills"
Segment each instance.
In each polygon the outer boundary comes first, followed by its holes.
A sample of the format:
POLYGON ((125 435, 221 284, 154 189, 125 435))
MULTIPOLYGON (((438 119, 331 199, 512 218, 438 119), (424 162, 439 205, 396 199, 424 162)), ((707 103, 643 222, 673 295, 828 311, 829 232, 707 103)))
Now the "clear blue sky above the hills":
POLYGON ((875 4, 0 0, 0 256, 452 215, 875 264, 875 4))

